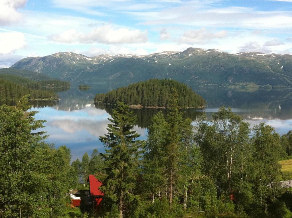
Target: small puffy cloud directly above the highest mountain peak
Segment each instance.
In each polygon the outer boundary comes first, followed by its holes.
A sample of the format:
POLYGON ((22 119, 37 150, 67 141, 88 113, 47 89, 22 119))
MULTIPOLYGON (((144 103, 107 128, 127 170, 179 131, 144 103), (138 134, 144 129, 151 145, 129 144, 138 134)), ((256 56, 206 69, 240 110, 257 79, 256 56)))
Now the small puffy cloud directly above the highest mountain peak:
POLYGON ((207 43, 212 39, 221 39, 227 37, 227 31, 222 30, 216 33, 209 32, 206 28, 199 30, 188 30, 183 33, 179 41, 181 43, 207 43))

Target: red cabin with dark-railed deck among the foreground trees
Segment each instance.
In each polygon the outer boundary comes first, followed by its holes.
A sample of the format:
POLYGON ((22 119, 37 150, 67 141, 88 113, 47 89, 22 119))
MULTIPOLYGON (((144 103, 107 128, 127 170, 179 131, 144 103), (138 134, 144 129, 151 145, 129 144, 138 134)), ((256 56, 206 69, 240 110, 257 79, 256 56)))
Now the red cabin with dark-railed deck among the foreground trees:
POLYGON ((79 190, 75 195, 71 196, 71 204, 79 207, 80 205, 88 209, 98 210, 101 200, 105 195, 99 189, 102 183, 95 178, 95 175, 89 175, 89 190, 79 190))

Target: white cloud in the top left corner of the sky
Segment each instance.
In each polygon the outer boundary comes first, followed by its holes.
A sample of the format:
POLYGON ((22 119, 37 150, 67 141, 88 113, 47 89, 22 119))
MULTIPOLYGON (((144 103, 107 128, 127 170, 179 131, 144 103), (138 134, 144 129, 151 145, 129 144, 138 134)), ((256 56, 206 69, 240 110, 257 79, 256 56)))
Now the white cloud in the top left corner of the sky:
POLYGON ((22 15, 17 11, 25 6, 27 0, 1 0, 0 25, 9 25, 21 20, 22 15))

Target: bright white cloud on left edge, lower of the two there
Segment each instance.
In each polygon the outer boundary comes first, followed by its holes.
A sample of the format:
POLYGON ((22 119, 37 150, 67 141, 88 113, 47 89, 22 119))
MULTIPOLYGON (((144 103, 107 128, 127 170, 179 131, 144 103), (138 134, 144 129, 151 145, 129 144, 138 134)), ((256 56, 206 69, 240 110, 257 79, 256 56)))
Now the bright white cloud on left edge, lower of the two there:
POLYGON ((12 53, 25 46, 25 36, 19 32, 0 32, 0 54, 12 53))

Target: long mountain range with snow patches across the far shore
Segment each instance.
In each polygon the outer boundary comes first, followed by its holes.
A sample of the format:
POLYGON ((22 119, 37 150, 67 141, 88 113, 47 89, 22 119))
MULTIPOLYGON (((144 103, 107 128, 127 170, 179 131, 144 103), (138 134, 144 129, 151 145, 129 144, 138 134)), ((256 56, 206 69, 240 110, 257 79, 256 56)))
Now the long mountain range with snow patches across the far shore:
POLYGON ((292 55, 188 48, 145 56, 135 54, 87 57, 62 52, 27 57, 11 66, 81 83, 133 83, 168 78, 197 85, 257 84, 292 86, 292 55))

